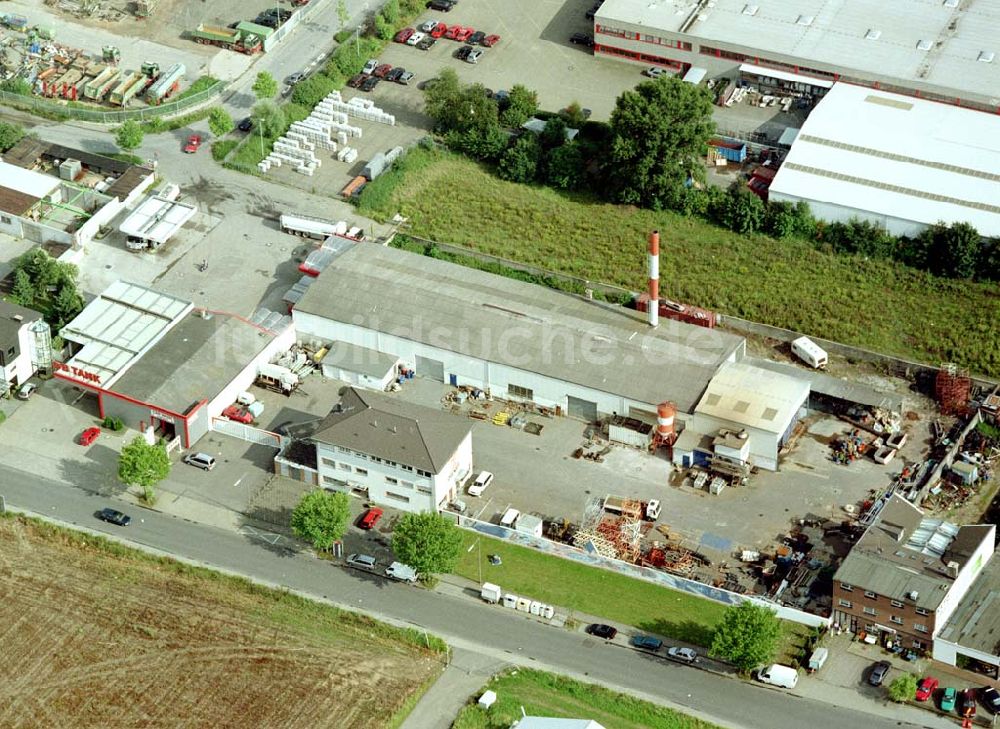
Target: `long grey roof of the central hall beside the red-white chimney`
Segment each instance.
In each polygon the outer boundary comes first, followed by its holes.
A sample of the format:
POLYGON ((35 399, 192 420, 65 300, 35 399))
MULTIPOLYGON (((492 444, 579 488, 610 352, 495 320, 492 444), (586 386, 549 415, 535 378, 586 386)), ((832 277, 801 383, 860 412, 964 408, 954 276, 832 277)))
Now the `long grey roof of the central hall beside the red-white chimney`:
POLYGON ((744 346, 718 329, 663 318, 654 329, 633 311, 376 245, 336 258, 302 312, 686 413, 744 346))

